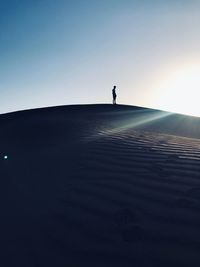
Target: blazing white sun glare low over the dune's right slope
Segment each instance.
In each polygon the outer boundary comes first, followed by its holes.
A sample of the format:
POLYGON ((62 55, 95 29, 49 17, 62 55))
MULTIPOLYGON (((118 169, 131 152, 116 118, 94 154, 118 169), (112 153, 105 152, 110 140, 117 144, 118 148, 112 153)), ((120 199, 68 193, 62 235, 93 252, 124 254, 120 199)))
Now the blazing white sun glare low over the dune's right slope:
POLYGON ((158 87, 162 109, 200 117, 200 66, 173 72, 158 87))

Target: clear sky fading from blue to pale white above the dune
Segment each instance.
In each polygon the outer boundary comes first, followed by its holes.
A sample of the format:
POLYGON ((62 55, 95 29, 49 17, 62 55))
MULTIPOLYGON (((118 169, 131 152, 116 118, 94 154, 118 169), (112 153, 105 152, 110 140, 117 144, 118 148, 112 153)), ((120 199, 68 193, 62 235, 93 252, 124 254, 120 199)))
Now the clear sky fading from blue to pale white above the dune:
POLYGON ((198 0, 0 0, 0 113, 110 103, 113 85, 119 103, 174 111, 198 70, 198 0))

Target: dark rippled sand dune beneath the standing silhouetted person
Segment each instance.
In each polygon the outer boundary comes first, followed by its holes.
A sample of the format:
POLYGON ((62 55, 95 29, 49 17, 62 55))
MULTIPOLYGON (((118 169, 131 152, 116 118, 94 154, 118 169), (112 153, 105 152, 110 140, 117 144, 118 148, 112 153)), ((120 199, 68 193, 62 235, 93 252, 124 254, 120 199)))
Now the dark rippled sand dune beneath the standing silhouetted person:
POLYGON ((200 119, 83 105, 0 129, 0 266, 200 266, 200 119))

